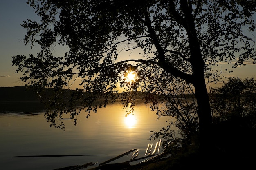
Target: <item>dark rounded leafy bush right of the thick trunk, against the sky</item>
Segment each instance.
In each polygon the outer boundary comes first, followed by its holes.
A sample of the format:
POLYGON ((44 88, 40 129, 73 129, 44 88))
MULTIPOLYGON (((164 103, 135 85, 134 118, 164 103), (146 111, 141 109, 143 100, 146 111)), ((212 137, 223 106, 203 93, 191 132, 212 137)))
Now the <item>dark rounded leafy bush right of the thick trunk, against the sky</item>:
POLYGON ((229 77, 220 88, 211 89, 211 105, 216 121, 240 117, 255 119, 256 81, 229 77))

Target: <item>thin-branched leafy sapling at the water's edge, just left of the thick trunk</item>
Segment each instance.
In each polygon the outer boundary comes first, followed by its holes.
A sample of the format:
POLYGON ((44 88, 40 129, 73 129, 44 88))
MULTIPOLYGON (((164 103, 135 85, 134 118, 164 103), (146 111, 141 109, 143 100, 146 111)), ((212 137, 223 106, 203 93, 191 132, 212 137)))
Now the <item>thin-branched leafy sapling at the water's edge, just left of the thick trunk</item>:
MULTIPOLYGON (((170 117, 169 125, 157 132, 151 131, 153 134, 149 139, 162 139, 162 146, 173 156, 180 148, 179 144, 183 150, 197 151, 199 124, 193 86, 170 75, 151 75, 148 78, 155 84, 154 92, 161 97, 152 97, 152 93, 148 93, 145 103, 150 103, 151 109, 156 110, 159 117, 170 117)), ((145 88, 149 89, 147 86, 145 88)))

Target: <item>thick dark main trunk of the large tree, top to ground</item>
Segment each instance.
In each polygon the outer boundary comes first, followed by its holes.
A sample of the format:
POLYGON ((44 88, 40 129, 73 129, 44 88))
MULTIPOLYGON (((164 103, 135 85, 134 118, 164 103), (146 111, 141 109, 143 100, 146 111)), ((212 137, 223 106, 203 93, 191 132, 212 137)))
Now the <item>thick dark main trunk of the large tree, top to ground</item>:
POLYGON ((197 38, 195 21, 192 15, 191 4, 186 0, 181 0, 180 5, 184 12, 183 26, 186 29, 189 39, 190 63, 193 71, 191 83, 195 87, 195 97, 198 104, 199 117, 199 140, 200 154, 208 155, 211 153, 212 146, 212 117, 209 102, 209 96, 205 85, 204 60, 200 49, 200 43, 197 38))

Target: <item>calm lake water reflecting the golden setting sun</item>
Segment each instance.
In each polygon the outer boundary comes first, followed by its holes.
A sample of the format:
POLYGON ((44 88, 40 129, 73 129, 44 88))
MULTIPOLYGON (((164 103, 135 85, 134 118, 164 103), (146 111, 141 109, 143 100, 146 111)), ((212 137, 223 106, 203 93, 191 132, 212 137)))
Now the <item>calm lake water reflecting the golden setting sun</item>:
MULTIPOLYGON (((137 103, 134 115, 117 102, 92 113, 81 113, 78 124, 63 120, 65 131, 50 128, 44 111, 36 103, 0 103, 0 169, 52 170, 89 162, 102 163, 131 149, 145 156, 150 130, 160 130, 170 117, 157 115, 143 102, 137 103), (72 157, 13 158, 22 155, 98 155, 72 157)), ((111 163, 130 160, 132 153, 111 163)), ((136 163, 136 162, 135 162, 136 163)), ((91 168, 93 166, 90 166, 91 168)))

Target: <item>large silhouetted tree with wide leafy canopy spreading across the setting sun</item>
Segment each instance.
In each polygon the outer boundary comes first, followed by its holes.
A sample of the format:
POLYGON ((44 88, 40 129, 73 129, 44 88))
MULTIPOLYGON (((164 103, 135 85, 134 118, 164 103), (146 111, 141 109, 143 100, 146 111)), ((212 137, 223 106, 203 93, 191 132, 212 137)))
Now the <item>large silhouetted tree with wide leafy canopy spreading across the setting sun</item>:
POLYGON ((159 80, 173 77, 193 86, 200 151, 209 153, 212 117, 205 79, 214 78, 211 70, 218 62, 235 61, 235 68, 256 60, 255 39, 248 34, 255 33, 254 0, 28 0, 28 4, 41 21, 24 21, 24 42, 39 44, 41 51, 37 56, 13 57, 13 65, 18 66, 16 72, 24 72, 21 79, 28 85, 54 88, 51 106, 60 111, 46 114, 54 126, 58 126, 54 119, 63 113, 70 112, 72 118, 79 114, 72 109, 77 99, 86 110, 95 111, 115 99, 119 82, 128 91, 139 86, 154 91, 157 84, 148 79, 150 75, 159 80), (56 45, 69 51, 54 56, 51 49, 56 45), (141 57, 119 60, 122 49, 141 49, 141 57), (128 82, 122 76, 129 70, 144 77, 128 82), (74 77, 82 79, 83 88, 63 109, 58 94, 74 77), (99 96, 106 100, 95 104, 99 96))

